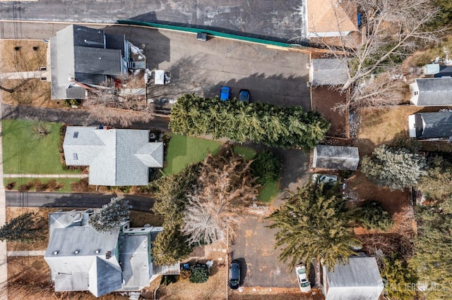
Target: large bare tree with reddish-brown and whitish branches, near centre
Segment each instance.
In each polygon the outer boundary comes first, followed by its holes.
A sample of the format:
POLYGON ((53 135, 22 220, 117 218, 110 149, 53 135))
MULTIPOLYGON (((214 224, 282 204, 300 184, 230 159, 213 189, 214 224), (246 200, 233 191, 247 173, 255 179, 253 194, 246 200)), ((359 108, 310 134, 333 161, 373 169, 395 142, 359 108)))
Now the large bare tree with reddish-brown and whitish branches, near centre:
POLYGON ((189 244, 226 242, 227 230, 234 235, 234 227, 242 222, 241 207, 257 196, 251 180, 249 165, 229 150, 228 156, 208 156, 201 167, 198 182, 184 213, 182 232, 189 244))

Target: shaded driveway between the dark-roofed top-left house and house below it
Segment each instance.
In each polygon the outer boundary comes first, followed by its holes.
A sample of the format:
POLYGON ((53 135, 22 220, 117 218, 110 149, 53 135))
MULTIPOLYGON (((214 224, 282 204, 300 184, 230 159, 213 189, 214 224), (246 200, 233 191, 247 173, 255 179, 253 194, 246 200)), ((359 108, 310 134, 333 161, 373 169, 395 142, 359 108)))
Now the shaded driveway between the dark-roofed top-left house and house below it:
MULTIPOLYGON (((99 124, 99 121, 90 117, 90 113, 81 109, 37 108, 2 104, 1 111, 5 119, 42 120, 83 126, 99 124)), ((149 123, 133 123, 131 127, 137 129, 156 129, 167 132, 168 123, 169 119, 167 118, 155 118, 149 123)), ((121 127, 119 124, 113 124, 113 126, 121 127)))

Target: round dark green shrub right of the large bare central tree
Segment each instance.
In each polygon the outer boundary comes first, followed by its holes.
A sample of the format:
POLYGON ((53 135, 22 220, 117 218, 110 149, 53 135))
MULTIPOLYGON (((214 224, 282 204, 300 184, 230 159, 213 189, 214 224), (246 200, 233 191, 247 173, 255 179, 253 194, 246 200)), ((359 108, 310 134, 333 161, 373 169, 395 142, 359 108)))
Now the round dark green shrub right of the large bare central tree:
POLYGON ((282 164, 278 157, 271 151, 261 151, 251 163, 251 175, 256 177, 259 185, 278 180, 281 174, 282 164))

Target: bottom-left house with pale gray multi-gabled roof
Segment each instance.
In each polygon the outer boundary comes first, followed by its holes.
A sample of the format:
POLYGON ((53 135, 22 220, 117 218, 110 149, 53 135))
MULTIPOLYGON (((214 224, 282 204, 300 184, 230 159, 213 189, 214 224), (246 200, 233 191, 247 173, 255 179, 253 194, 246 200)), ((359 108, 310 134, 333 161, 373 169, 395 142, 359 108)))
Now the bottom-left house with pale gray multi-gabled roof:
POLYGON ((180 273, 179 263, 153 264, 151 244, 162 227, 130 228, 126 222, 112 232, 97 232, 88 225, 92 213, 49 213, 49 245, 44 260, 50 267, 55 292, 90 291, 98 297, 140 291, 155 275, 180 273))

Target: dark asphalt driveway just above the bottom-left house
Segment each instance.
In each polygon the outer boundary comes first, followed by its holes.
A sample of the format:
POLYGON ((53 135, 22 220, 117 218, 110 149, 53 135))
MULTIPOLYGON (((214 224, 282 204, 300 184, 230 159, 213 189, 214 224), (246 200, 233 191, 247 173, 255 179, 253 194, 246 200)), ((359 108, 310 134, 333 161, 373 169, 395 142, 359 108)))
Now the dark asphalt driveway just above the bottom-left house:
MULTIPOLYGON (((6 206, 100 208, 109 203, 113 194, 47 193, 6 191, 6 206)), ((155 200, 144 196, 124 195, 136 211, 149 211, 155 200)))

